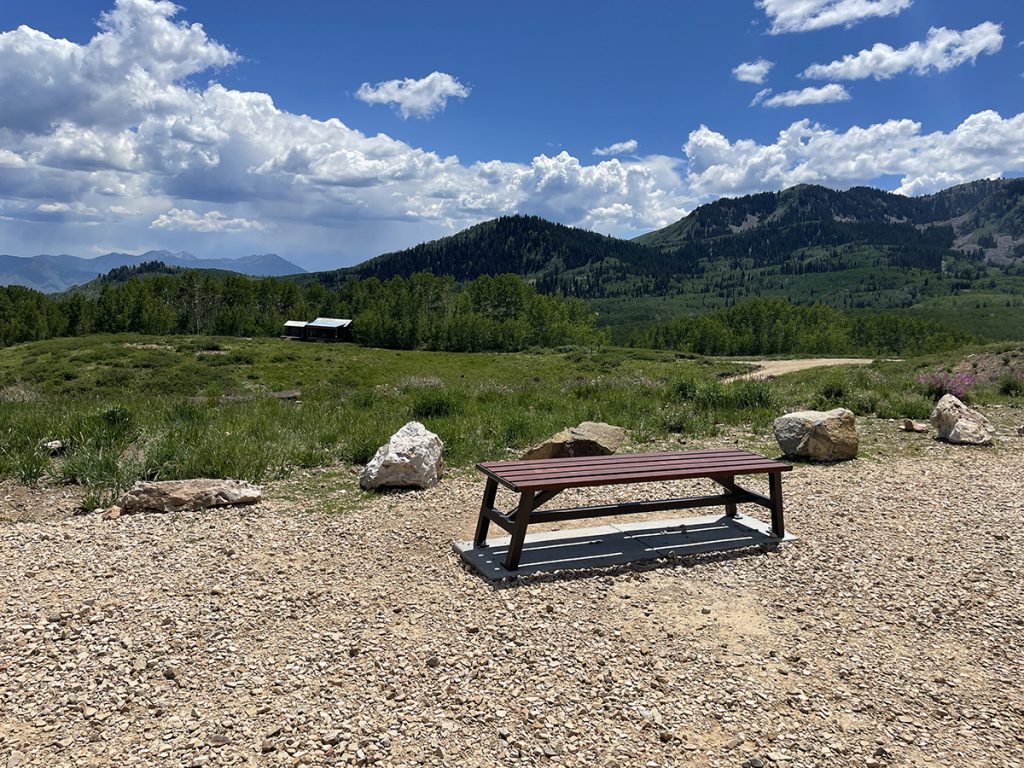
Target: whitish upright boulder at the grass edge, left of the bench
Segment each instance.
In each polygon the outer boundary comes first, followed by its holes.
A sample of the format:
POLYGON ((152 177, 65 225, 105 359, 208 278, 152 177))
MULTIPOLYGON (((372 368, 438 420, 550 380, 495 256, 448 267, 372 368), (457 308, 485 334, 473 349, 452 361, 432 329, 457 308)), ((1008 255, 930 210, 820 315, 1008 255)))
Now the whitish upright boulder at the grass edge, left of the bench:
POLYGON ((420 422, 411 421, 377 449, 359 475, 359 486, 374 490, 435 485, 444 471, 443 447, 440 437, 420 422))

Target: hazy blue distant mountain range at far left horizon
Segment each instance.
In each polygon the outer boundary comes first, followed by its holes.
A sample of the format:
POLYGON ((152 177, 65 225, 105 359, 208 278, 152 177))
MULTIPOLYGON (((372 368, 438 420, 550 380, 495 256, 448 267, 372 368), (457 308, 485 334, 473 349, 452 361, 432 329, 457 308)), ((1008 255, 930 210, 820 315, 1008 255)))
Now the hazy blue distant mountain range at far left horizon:
POLYGON ((0 285, 26 286, 43 293, 59 293, 82 285, 119 266, 135 266, 145 261, 162 261, 168 266, 189 269, 227 269, 242 274, 281 276, 306 271, 275 253, 242 256, 237 259, 201 259, 181 251, 106 253, 92 259, 77 256, 4 256, 0 255, 0 285))

